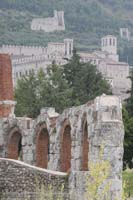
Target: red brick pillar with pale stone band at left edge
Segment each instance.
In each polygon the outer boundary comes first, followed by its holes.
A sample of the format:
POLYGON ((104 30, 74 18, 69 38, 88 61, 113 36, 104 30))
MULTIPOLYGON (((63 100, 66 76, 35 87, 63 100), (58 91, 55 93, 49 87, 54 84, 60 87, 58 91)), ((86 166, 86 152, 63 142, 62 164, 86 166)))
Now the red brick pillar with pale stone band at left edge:
POLYGON ((0 54, 0 117, 14 113, 12 65, 10 56, 0 54))

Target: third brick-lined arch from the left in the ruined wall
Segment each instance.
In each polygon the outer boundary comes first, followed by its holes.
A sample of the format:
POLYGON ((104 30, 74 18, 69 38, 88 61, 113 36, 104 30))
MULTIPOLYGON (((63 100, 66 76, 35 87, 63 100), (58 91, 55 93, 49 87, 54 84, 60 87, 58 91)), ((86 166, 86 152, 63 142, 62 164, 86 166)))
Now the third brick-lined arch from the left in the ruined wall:
POLYGON ((61 171, 67 172, 71 168, 71 126, 65 120, 61 130, 61 171))

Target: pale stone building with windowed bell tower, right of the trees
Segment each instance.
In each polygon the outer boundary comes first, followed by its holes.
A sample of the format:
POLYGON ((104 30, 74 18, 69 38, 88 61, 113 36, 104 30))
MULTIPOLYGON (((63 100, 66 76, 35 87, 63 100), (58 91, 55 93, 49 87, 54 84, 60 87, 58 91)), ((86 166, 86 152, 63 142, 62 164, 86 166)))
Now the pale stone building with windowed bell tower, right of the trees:
POLYGON ((101 51, 93 53, 79 52, 82 62, 91 62, 97 66, 103 77, 109 82, 112 92, 124 100, 131 87, 129 76, 130 67, 127 63, 119 62, 117 54, 117 38, 105 36, 101 39, 101 51))

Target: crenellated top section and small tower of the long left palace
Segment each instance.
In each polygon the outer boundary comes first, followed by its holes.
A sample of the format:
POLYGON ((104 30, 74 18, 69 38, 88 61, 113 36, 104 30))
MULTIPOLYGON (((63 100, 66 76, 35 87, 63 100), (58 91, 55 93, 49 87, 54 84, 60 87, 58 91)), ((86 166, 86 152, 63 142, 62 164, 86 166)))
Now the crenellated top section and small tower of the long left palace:
POLYGON ((51 56, 53 54, 71 57, 73 53, 73 39, 64 39, 64 42, 49 42, 47 47, 43 46, 15 46, 2 45, 0 53, 7 53, 12 57, 26 57, 26 56, 51 56))

